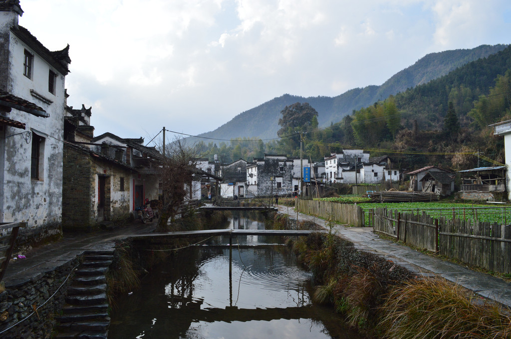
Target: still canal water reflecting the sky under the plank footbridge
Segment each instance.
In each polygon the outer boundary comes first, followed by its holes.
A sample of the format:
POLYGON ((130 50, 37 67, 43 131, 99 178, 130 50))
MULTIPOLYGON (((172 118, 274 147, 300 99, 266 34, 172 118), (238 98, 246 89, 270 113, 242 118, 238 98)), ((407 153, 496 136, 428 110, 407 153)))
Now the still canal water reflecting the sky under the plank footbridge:
MULTIPOLYGON (((229 228, 264 229, 234 215, 229 228)), ((278 238, 214 238, 153 267, 118 300, 109 338, 360 338, 332 309, 311 301, 311 275, 278 238), (231 274, 229 275, 229 266, 231 274)))

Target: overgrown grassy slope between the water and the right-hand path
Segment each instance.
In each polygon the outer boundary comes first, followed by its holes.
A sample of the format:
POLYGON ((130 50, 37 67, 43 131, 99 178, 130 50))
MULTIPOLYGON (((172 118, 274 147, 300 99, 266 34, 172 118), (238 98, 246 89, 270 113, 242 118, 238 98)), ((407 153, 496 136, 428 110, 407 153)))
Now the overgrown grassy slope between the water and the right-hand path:
POLYGON ((511 338, 509 310, 445 279, 416 277, 332 233, 289 243, 313 273, 314 299, 332 305, 362 335, 511 338))

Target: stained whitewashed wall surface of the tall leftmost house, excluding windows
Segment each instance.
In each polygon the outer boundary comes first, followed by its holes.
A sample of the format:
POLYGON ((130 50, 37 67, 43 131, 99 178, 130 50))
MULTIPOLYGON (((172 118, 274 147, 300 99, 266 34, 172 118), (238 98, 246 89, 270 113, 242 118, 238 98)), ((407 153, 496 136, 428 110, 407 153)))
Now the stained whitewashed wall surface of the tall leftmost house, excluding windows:
MULTIPOLYGON (((3 27, 6 29, 6 27, 3 27)), ((7 90, 22 99, 42 107, 50 117, 37 117, 12 109, 8 117, 26 124, 25 133, 12 127, 6 128, 4 144, 4 178, 1 222, 26 221, 29 227, 61 223, 62 213, 62 139, 64 124, 64 75, 39 57, 12 32, 9 39, 9 82, 7 90), (23 75, 25 49, 34 55, 32 79, 23 75), (55 94, 48 90, 48 75, 57 73, 55 94), (48 103, 32 96, 35 90, 48 103), (41 179, 30 177, 32 142, 27 132, 36 129, 48 137, 40 155, 41 179)))

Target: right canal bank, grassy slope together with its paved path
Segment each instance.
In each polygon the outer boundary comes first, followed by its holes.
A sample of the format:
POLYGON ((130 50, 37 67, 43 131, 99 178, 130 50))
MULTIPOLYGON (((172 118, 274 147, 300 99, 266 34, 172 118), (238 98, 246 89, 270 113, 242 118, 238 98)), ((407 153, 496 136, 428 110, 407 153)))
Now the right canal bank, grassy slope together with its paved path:
POLYGON ((370 228, 326 223, 287 207, 280 213, 331 230, 291 245, 313 272, 316 300, 332 305, 360 333, 511 338, 507 282, 381 239, 370 228))

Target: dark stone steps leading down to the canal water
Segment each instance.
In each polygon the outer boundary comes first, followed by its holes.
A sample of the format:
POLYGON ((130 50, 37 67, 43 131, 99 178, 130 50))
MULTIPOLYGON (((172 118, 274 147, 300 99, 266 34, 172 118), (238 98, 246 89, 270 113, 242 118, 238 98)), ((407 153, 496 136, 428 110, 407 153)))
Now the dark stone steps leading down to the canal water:
POLYGON ((86 252, 67 288, 62 316, 57 320, 55 338, 106 339, 110 317, 106 295, 106 273, 113 251, 86 252))

